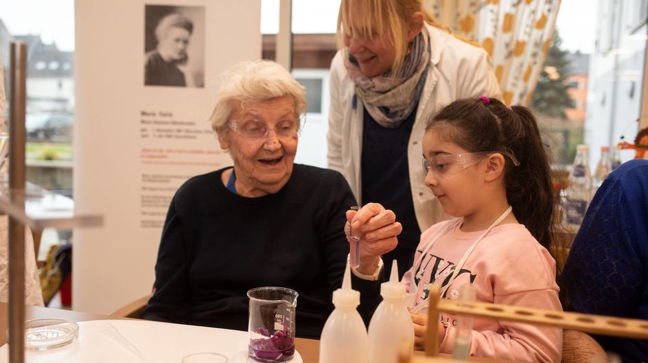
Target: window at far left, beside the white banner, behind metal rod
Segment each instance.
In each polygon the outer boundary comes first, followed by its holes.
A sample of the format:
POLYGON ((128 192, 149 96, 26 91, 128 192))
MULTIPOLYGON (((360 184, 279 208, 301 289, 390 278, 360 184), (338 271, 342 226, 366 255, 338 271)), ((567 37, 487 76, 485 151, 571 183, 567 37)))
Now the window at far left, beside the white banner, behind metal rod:
MULTIPOLYGON (((10 42, 19 40, 27 44, 29 54, 25 115, 27 181, 71 196, 74 1, 3 0, 1 8, 0 53, 7 93, 10 42)), ((38 259, 45 259, 51 244, 69 237, 69 231, 45 229, 38 259)))

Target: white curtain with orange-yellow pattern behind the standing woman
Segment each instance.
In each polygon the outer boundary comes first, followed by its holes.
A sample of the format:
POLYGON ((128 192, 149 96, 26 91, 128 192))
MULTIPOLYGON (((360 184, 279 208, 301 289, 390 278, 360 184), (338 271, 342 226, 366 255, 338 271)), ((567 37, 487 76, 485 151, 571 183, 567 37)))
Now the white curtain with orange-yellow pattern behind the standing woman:
POLYGON ((441 25, 486 49, 506 104, 529 104, 560 0, 424 0, 424 5, 441 25))

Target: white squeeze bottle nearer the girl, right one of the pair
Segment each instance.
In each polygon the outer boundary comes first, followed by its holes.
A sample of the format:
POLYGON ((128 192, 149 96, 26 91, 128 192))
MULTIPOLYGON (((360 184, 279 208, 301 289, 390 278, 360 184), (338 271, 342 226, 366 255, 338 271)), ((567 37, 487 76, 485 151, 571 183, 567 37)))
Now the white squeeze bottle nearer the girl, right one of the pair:
POLYGON ((414 350, 414 325, 403 299, 405 285, 398 281, 398 267, 391 265, 389 282, 380 285, 382 303, 375 309, 369 323, 369 361, 395 363, 401 344, 414 350))

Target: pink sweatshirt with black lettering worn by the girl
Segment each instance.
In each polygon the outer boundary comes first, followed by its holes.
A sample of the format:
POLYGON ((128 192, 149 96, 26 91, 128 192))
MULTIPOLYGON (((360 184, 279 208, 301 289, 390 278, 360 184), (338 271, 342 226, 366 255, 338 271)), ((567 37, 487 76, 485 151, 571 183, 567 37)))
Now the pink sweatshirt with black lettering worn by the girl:
MULTIPOLYGON (((430 239, 448 223, 431 226, 421 235, 414 260, 430 239)), ((428 289, 443 281, 442 290, 454 272, 454 266, 483 231, 462 232, 459 225, 439 238, 428 250, 421 264, 410 268, 403 277, 410 289, 410 278, 417 285, 416 305, 426 303, 428 289)), ((476 301, 535 307, 562 311, 555 283, 555 261, 522 224, 501 224, 492 229, 472 251, 443 298, 459 298, 461 287, 472 281, 476 301)), ((441 353, 452 353, 456 336, 456 317, 441 316, 449 323, 441 342, 441 353)), ((474 320, 470 355, 522 362, 559 363, 562 355, 562 329, 491 319, 474 320)))

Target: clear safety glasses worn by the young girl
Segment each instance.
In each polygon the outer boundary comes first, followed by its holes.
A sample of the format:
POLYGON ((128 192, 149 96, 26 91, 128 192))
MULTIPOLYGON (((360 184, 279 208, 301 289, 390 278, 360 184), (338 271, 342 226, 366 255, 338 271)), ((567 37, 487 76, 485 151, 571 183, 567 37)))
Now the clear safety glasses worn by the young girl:
POLYGON ((449 178, 467 167, 476 165, 490 154, 502 154, 508 156, 513 165, 520 165, 516 156, 505 151, 487 151, 487 152, 464 152, 462 154, 438 154, 430 156, 430 160, 423 156, 423 172, 427 176, 428 171, 432 172, 439 179, 449 178))

